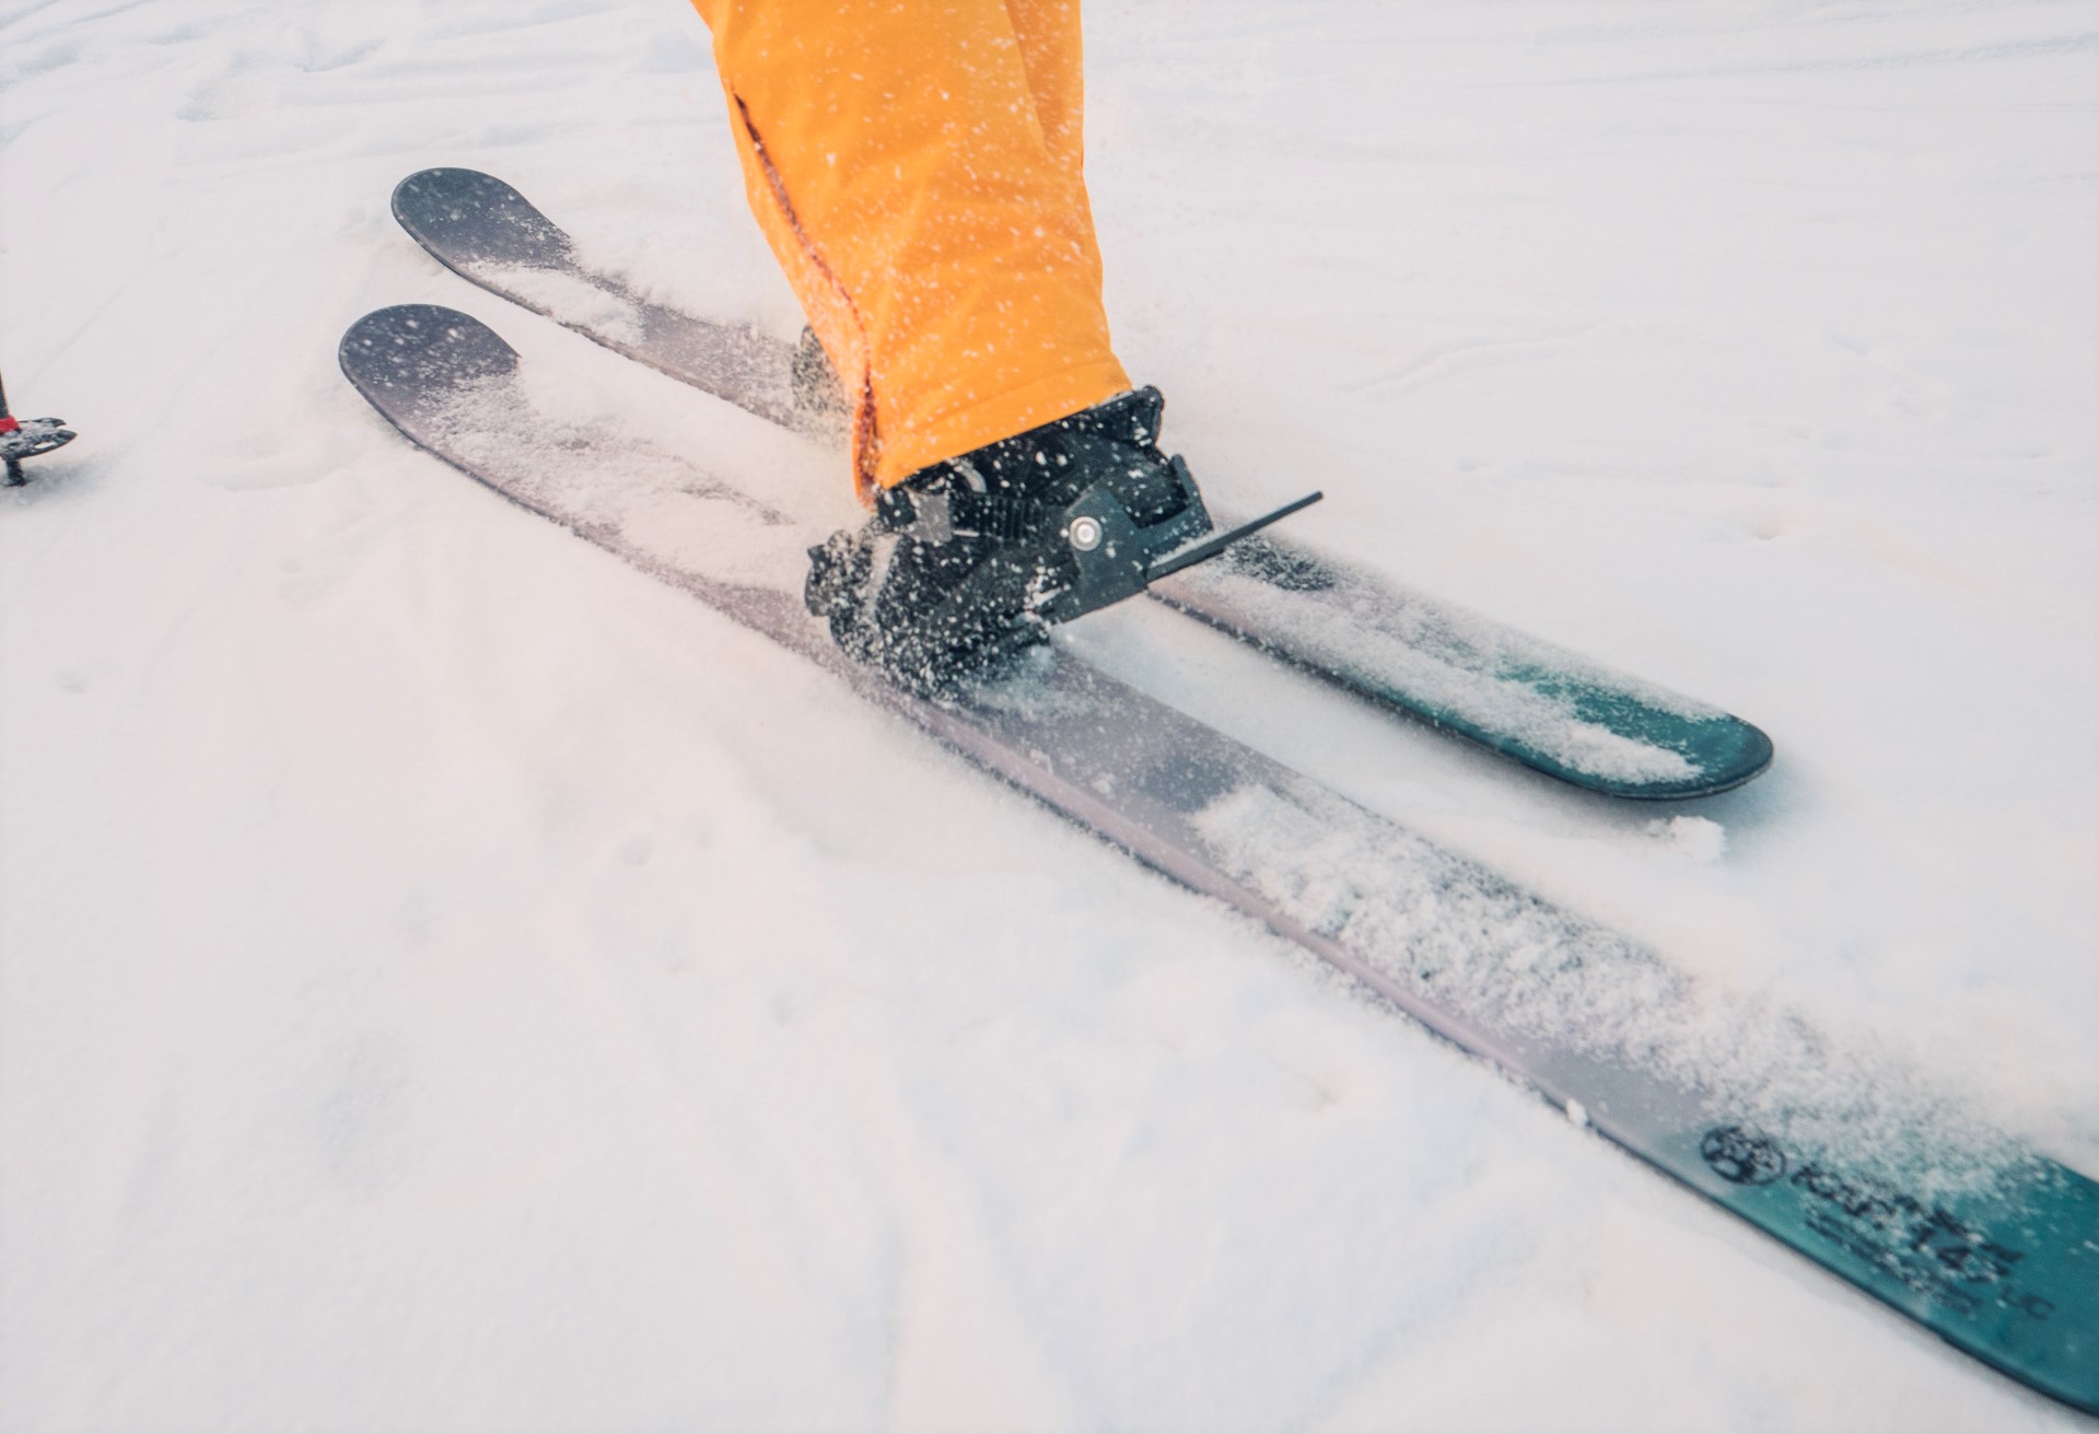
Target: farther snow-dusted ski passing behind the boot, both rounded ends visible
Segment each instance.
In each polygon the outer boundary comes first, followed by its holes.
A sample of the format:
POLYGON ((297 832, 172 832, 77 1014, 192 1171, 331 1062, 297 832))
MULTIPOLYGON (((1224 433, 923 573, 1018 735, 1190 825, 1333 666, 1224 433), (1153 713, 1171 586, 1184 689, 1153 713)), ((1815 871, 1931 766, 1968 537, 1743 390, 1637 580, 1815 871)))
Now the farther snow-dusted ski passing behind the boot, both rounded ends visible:
MULTIPOLYGON (((479 170, 409 174, 395 218, 481 288, 760 418, 823 433, 793 349, 655 304, 581 262, 525 195, 479 170)), ((1220 512, 1230 527, 1236 519, 1220 512)), ((1163 579, 1152 596, 1377 703, 1623 798, 1727 792, 1772 764, 1748 722, 1436 603, 1285 535, 1163 579)))

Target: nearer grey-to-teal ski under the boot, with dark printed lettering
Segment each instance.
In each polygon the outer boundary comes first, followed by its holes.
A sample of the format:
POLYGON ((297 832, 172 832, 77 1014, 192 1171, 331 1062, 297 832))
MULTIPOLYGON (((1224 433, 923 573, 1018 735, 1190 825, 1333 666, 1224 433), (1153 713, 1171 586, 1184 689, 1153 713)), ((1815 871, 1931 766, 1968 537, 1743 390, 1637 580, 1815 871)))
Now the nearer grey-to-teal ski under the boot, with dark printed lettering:
POLYGON ((2099 1411, 2099 1186, 1956 1098, 1444 852, 1056 645, 951 699, 852 663, 798 598, 806 498, 533 407, 430 304, 342 370, 414 443, 833 672, 1954 1346, 2099 1411))

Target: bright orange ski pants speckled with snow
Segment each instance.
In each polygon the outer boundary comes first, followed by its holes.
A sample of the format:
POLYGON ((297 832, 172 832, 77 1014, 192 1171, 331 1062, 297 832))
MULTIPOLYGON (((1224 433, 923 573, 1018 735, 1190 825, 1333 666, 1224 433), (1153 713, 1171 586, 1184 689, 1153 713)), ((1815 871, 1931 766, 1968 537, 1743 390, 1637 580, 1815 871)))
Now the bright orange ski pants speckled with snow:
POLYGON ((1079 0, 693 0, 861 495, 1129 388, 1085 199, 1079 0))

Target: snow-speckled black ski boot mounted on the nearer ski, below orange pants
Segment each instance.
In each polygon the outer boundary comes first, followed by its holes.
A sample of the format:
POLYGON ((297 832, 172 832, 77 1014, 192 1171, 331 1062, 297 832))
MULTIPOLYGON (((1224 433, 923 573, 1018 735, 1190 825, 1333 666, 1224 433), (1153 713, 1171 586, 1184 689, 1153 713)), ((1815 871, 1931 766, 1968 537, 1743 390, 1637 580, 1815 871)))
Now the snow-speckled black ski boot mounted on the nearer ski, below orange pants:
POLYGON ((1180 456, 1159 451, 1157 388, 951 458, 810 548, 808 611, 907 687, 951 684, 1136 592, 1211 523, 1180 456))

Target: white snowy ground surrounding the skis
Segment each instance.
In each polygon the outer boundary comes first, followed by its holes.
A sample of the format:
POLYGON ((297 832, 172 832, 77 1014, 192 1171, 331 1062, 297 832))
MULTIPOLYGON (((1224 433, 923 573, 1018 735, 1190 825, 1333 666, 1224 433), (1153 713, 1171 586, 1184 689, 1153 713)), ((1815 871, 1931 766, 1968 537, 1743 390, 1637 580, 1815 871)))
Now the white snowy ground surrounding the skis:
MULTIPOLYGON (((2099 1172, 2099 10, 1089 52, 1196 472, 1780 762, 1625 808, 1079 640, 2099 1172)), ((0 498, 0 1426, 2080 1426, 409 451, 334 344, 437 300, 827 468, 439 271, 428 164, 798 323, 678 0, 0 0, 0 363, 82 433, 0 498)))

